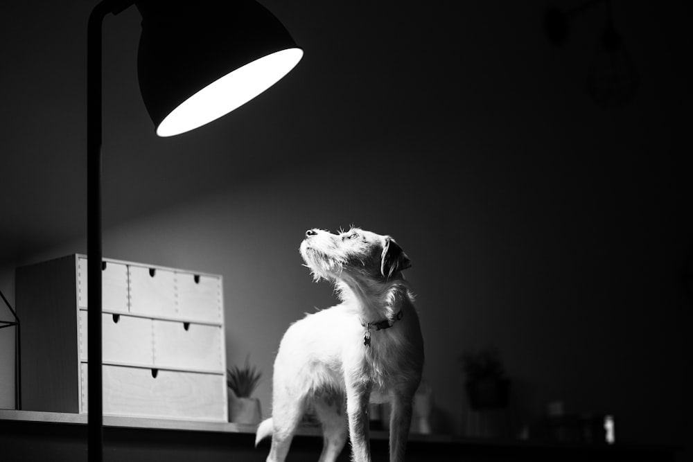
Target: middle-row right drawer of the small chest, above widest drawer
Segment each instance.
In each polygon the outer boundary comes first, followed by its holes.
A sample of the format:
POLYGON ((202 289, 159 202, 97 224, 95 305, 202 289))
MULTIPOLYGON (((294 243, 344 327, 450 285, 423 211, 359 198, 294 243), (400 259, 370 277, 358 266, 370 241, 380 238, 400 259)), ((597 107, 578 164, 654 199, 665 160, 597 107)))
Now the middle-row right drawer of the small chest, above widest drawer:
POLYGON ((154 364, 223 373, 222 335, 220 326, 155 320, 154 364))

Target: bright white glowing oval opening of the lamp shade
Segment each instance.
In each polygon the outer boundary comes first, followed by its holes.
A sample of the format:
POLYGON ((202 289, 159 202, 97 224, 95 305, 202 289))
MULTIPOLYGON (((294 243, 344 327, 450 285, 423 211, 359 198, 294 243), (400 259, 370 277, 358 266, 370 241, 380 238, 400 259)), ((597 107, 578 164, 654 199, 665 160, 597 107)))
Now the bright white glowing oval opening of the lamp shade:
POLYGON ((228 114, 281 80, 301 57, 300 48, 288 48, 224 75, 173 109, 157 127, 157 135, 188 132, 228 114))

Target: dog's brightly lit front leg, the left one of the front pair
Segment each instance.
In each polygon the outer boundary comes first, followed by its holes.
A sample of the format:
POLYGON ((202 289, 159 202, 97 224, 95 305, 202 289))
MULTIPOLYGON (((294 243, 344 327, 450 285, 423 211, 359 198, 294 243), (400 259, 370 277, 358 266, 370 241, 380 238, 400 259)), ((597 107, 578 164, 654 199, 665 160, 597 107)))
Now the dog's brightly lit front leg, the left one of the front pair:
POLYGON ((370 462, 371 444, 368 433, 368 402, 371 382, 347 382, 347 415, 349 439, 354 462, 370 462))

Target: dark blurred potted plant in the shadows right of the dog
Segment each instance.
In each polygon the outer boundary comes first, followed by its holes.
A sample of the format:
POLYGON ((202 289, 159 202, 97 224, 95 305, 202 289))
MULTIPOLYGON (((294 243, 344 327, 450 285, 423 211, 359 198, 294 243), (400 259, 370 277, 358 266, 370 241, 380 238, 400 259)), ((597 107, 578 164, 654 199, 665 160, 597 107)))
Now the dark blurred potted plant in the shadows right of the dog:
POLYGON ((474 410, 508 407, 510 380, 498 350, 487 348, 475 353, 462 353, 462 369, 466 375, 469 405, 474 410))

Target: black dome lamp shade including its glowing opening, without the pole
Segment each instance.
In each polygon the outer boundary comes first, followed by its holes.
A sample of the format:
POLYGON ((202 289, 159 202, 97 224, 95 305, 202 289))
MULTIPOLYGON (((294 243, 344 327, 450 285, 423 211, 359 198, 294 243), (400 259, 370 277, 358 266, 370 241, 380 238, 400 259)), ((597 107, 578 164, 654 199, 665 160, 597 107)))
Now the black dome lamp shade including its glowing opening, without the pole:
POLYGON ((303 56, 254 0, 141 0, 137 72, 159 136, 211 122, 271 87, 303 56))

